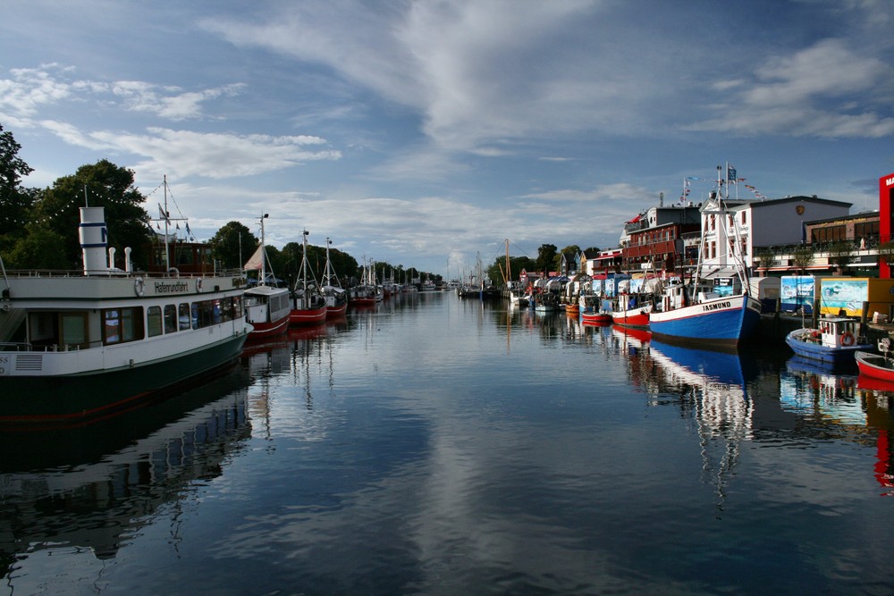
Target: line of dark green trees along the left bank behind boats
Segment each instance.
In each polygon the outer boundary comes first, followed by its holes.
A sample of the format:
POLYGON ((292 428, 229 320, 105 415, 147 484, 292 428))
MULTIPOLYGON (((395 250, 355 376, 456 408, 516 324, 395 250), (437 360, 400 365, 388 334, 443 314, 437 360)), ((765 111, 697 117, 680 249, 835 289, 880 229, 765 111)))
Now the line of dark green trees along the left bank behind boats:
MULTIPOLYGON (((132 170, 103 159, 80 166, 74 174, 55 180, 45 189, 25 188, 22 179, 34 170, 21 159, 20 151, 13 133, 4 131, 0 124, 0 257, 6 269, 80 269, 79 208, 101 206, 105 207, 109 246, 122 258, 123 249, 131 247, 134 267, 148 271, 150 252, 160 240, 143 207, 148 197, 134 186, 132 170)), ((218 268, 238 269, 260 241, 245 225, 233 221, 207 244, 218 268)), ((301 242, 290 242, 282 249, 266 247, 269 263, 283 281, 297 279, 302 252, 301 242)), ((308 244, 308 262, 317 280, 324 273, 325 252, 325 246, 308 244)), ((336 248, 330 248, 329 253, 342 284, 359 280, 362 266, 353 256, 336 248)), ((395 281, 443 279, 400 264, 378 262, 375 270, 379 281, 383 274, 391 274, 395 281)))

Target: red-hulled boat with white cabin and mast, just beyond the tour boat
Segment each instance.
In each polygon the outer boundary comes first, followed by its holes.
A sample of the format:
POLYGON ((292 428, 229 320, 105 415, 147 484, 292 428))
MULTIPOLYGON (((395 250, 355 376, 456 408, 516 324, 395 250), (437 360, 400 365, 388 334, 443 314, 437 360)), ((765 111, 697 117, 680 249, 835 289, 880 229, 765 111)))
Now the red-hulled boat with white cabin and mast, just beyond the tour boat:
MULTIPOLYGON (((265 340, 281 335, 289 328, 289 289, 267 285, 267 258, 264 250, 264 220, 261 217, 261 244, 245 264, 245 269, 258 269, 257 285, 245 290, 245 317, 252 325, 250 340, 265 340)), ((271 271, 271 278, 275 276, 271 271)))

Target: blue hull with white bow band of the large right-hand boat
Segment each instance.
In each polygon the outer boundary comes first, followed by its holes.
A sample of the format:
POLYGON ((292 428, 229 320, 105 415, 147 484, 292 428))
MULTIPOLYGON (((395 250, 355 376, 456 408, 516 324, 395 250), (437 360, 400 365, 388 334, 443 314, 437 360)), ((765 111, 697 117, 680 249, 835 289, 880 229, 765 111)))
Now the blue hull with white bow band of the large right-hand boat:
POLYGON ((678 341, 736 346, 754 335, 761 303, 748 296, 715 298, 669 312, 653 311, 649 328, 655 336, 678 341))

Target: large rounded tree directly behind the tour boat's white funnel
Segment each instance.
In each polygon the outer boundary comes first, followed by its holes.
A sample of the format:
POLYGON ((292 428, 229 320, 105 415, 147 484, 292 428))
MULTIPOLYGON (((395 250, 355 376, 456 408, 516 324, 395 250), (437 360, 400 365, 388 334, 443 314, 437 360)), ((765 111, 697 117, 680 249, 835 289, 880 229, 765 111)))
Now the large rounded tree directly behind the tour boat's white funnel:
POLYGON ((79 207, 105 207, 108 243, 123 256, 131 247, 137 268, 147 268, 152 236, 146 201, 133 186, 133 171, 108 160, 82 165, 72 176, 55 180, 36 201, 32 222, 46 232, 63 238, 63 256, 68 264, 80 264, 79 207), (86 205, 85 205, 86 204, 86 205))

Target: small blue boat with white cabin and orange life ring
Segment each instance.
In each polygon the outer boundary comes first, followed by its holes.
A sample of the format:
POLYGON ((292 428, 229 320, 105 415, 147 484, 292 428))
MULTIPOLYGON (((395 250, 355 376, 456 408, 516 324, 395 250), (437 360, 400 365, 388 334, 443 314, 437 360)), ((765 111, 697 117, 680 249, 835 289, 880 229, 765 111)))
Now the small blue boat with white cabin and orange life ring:
POLYGON ((789 348, 800 357, 829 364, 854 362, 857 351, 872 351, 874 346, 861 338, 856 319, 823 317, 816 328, 796 329, 785 338, 789 348))

